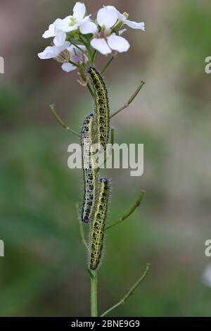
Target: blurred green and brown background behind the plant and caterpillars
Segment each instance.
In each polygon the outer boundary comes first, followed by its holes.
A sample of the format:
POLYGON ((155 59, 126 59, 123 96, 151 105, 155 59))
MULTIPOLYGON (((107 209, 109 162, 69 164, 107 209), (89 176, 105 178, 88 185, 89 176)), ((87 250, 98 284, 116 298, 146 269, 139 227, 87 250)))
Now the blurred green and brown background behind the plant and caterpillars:
MULTIPOLYGON (((84 1, 89 13, 103 4, 145 21, 146 32, 128 30, 131 44, 108 68, 111 108, 122 106, 140 80, 145 87, 113 120, 115 142, 144 144, 144 175, 106 170, 113 182, 108 223, 127 211, 141 189, 140 208, 108 232, 99 272, 99 309, 115 304, 151 271, 113 316, 210 316, 211 288, 202 282, 211 258, 211 56, 210 0, 84 1)), ((37 53, 55 18, 72 11, 70 0, 1 1, 0 74, 1 316, 89 316, 87 256, 79 239, 75 204, 82 201, 82 173, 68 169, 65 132, 49 111, 75 130, 93 108, 77 73, 64 73, 37 53)), ((99 56, 98 68, 106 62, 99 56)))

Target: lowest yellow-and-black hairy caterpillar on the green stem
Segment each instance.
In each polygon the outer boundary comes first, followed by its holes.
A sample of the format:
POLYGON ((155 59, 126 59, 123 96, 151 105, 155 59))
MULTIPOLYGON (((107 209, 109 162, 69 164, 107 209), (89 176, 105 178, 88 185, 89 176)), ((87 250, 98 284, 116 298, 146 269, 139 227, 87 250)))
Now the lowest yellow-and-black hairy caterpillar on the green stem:
POLYGON ((100 188, 96 203, 94 218, 91 223, 90 261, 89 268, 96 270, 101 261, 103 251, 104 228, 108 210, 108 198, 110 193, 109 181, 106 177, 100 179, 100 188))

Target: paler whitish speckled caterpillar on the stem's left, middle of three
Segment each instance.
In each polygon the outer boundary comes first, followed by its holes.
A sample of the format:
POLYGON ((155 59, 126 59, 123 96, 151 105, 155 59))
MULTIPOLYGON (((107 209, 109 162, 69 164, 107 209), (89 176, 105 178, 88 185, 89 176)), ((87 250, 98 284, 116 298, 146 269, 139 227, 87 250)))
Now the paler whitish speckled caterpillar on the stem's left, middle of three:
POLYGON ((82 169, 84 174, 84 201, 82 221, 89 223, 94 211, 97 191, 97 171, 91 164, 91 146, 94 144, 94 115, 85 118, 82 127, 82 169))

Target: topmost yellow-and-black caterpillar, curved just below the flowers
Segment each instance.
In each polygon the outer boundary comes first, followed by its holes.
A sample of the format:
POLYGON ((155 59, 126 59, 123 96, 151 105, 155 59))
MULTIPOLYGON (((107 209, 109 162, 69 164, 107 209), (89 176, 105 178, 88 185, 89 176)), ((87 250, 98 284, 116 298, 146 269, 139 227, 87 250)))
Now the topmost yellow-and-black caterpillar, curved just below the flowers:
POLYGON ((95 94, 95 119, 96 119, 96 136, 98 146, 103 146, 106 150, 110 130, 110 116, 108 104, 108 91, 103 77, 98 73, 96 68, 88 68, 87 73, 91 80, 95 94))

